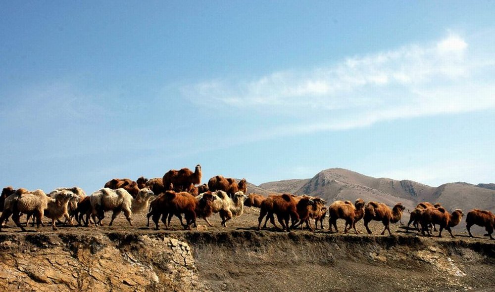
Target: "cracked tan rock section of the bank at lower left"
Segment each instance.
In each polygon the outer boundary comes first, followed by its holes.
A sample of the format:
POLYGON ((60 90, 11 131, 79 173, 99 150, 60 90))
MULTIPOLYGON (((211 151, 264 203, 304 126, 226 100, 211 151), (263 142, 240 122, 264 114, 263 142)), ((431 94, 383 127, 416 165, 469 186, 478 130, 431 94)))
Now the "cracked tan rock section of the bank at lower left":
POLYGON ((0 241, 2 291, 204 291, 191 247, 174 238, 35 234, 0 241))

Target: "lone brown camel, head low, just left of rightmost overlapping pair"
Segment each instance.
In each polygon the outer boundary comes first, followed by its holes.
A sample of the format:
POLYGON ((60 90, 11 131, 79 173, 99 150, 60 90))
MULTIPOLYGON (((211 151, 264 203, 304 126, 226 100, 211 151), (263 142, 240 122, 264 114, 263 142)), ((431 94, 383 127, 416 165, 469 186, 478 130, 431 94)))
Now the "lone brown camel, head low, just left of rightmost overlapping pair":
POLYGON ((405 207, 400 203, 397 203, 393 209, 390 209, 389 206, 383 203, 368 202, 364 209, 364 227, 366 227, 366 231, 368 232, 368 234, 372 233, 371 230, 368 228, 368 223, 371 220, 376 220, 382 221, 383 225, 385 226, 381 233, 382 235, 385 234, 385 230, 388 230, 389 235, 392 235, 392 232, 390 231, 390 223, 396 223, 400 221, 404 209, 405 207))

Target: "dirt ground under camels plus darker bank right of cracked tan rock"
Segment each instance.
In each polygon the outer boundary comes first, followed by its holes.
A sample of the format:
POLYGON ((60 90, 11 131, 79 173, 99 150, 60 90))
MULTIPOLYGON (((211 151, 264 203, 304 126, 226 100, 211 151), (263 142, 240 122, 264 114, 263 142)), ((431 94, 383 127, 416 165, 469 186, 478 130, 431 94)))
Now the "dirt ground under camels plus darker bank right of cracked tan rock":
MULTIPOLYGON (((269 228, 257 231, 258 214, 258 209, 246 208, 227 228, 214 215, 210 219, 213 227, 201 219, 197 229, 186 231, 177 218, 170 228, 160 222, 159 230, 153 230, 152 222, 146 227, 145 214, 134 214, 133 226, 121 214, 113 226, 60 226, 52 231, 47 224, 42 234, 183 240, 191 246, 194 273, 202 283, 198 290, 202 291, 495 291, 495 241, 484 237, 482 229, 473 232, 475 238, 460 231, 461 226, 453 228, 454 239, 448 232, 443 238, 428 238, 416 231, 406 233, 396 223, 391 226, 392 236, 381 236, 381 222, 372 222, 373 235, 368 235, 360 221, 356 224, 360 234, 344 235, 344 222, 339 220, 341 233, 328 229, 285 232, 270 223, 269 228)), ((111 214, 106 216, 104 223, 111 214)), ((402 221, 407 223, 407 219, 402 221)), ((328 218, 324 226, 328 228, 328 218)), ((25 234, 33 232, 23 233, 10 221, 1 236, 25 234)), ((121 240, 117 246, 123 249, 125 245, 121 240)), ((163 288, 144 291, 154 290, 163 288)))

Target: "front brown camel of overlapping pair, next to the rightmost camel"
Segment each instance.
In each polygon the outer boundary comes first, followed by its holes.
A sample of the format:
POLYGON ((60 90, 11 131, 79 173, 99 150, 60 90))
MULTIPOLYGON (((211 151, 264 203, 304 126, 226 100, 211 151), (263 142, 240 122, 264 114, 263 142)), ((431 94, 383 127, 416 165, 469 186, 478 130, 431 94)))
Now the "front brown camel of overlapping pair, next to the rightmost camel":
POLYGON ((464 216, 464 213, 461 209, 455 209, 452 214, 447 212, 443 207, 436 209, 424 209, 421 213, 421 233, 425 235, 426 231, 426 233, 431 236, 431 232, 428 228, 429 224, 439 224, 440 229, 438 237, 442 237, 442 231, 444 228, 448 231, 448 233, 450 233, 451 237, 455 237, 450 228, 459 224, 462 216, 464 216))

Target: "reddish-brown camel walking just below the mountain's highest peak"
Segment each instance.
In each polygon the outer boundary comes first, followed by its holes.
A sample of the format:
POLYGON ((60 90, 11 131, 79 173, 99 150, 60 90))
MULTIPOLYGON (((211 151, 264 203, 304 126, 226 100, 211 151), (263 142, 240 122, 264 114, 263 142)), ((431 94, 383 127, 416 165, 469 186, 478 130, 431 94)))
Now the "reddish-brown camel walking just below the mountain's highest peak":
POLYGON ((328 225, 330 232, 332 232, 332 225, 337 229, 337 219, 346 220, 346 226, 344 227, 344 233, 347 233, 348 229, 353 228, 356 234, 359 232, 356 229, 356 222, 364 217, 364 201, 357 199, 354 204, 349 201, 335 201, 328 207, 328 225), (349 228, 347 229, 347 225, 349 228))

